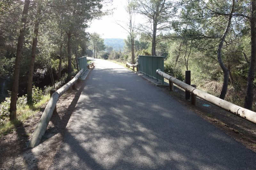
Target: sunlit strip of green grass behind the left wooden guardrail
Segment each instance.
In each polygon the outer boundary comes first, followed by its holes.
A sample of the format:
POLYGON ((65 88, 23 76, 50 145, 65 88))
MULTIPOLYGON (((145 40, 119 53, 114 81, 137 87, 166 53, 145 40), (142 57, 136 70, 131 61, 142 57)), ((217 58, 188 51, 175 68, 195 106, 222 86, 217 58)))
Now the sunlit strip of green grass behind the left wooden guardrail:
POLYGON ((3 124, 0 125, 0 137, 6 135, 15 129, 15 125, 19 125, 28 119, 31 115, 34 115, 40 110, 42 105, 50 100, 50 94, 44 95, 43 99, 40 100, 35 105, 17 108, 17 119, 15 121, 6 120, 3 124))

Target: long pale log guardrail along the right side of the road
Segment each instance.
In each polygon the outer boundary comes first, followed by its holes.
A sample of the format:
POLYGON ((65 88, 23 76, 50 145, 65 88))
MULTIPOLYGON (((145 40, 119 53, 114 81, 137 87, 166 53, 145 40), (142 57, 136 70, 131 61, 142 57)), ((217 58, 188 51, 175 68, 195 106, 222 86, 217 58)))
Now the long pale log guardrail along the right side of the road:
POLYGON ((187 85, 186 83, 164 73, 160 69, 157 69, 156 73, 161 75, 162 77, 166 78, 167 80, 169 80, 170 83, 178 85, 179 87, 189 91, 191 94, 193 94, 201 99, 204 99, 218 107, 221 107, 239 117, 242 117, 248 121, 256 123, 256 113, 255 112, 248 110, 246 108, 237 106, 237 105, 230 103, 226 100, 222 100, 222 99, 215 97, 211 94, 208 94, 206 92, 203 92, 195 87, 192 87, 191 85, 187 85))

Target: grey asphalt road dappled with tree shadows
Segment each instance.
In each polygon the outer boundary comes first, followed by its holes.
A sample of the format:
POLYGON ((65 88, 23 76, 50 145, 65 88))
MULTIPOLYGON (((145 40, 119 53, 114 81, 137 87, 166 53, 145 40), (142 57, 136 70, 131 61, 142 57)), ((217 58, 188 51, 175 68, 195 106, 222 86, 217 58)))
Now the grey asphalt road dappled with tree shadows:
POLYGON ((95 62, 50 169, 256 169, 256 153, 160 88, 95 62))

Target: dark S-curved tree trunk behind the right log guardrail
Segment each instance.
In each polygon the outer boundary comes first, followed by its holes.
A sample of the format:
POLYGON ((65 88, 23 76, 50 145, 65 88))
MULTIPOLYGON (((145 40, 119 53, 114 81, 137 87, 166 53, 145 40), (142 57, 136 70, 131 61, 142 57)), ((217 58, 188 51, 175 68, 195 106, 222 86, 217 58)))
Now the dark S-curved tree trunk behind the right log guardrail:
POLYGON ((225 96, 226 96, 226 93, 227 93, 227 90, 228 90, 228 74, 229 74, 229 70, 228 70, 228 68, 225 66, 225 64, 222 61, 221 49, 223 47, 223 43, 224 43, 225 38, 226 38, 226 36, 228 34, 228 31, 229 31, 229 27, 230 27, 231 19, 232 19, 232 14, 233 14, 233 11, 234 11, 234 5, 235 5, 235 0, 232 1, 232 9, 231 9, 230 15, 228 17, 228 25, 226 27, 226 30, 225 30, 223 36, 221 37, 220 44, 219 44, 219 47, 218 47, 218 62, 220 64, 220 67, 221 67, 221 69, 223 71, 223 74, 224 74, 222 90, 220 92, 220 99, 223 99, 223 100, 225 99, 225 96))

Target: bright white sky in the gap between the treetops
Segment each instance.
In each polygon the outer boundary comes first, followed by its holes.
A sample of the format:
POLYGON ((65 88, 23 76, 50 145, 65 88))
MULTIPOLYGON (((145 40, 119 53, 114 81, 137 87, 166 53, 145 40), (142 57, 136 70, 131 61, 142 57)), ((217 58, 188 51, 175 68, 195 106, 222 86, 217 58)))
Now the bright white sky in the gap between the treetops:
MULTIPOLYGON (((103 10, 114 8, 113 14, 104 16, 100 20, 93 20, 86 31, 99 33, 102 38, 126 39, 129 35, 128 32, 116 24, 118 22, 122 26, 126 26, 126 22, 129 21, 128 13, 125 11, 126 5, 126 0, 113 0, 111 6, 103 6, 103 10)), ((143 20, 141 16, 135 16, 135 22, 140 22, 141 20, 143 20)))

